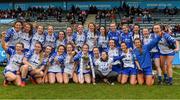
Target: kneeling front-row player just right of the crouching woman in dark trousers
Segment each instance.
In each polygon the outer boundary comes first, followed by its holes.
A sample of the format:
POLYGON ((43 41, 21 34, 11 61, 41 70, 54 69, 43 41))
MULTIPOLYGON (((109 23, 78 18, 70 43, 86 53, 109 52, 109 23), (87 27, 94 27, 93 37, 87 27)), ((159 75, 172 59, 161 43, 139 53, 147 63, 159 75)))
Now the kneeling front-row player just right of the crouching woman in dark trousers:
MULTIPOLYGON (((110 59, 113 59, 114 56, 119 56, 119 48, 116 47, 115 40, 110 39, 109 40, 109 48, 106 50, 108 52, 108 56, 110 59)), ((118 73, 117 80, 118 82, 121 82, 121 67, 120 67, 120 61, 115 61, 112 63, 112 71, 118 73)))

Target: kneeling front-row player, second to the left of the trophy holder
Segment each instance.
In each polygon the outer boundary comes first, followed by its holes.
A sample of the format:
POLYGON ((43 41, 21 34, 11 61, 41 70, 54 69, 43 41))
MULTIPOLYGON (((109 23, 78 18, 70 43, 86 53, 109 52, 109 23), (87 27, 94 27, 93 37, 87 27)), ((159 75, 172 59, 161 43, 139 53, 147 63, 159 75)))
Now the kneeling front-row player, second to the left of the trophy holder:
POLYGON ((50 84, 63 83, 63 60, 65 47, 59 45, 57 52, 53 53, 48 62, 48 79, 50 84))

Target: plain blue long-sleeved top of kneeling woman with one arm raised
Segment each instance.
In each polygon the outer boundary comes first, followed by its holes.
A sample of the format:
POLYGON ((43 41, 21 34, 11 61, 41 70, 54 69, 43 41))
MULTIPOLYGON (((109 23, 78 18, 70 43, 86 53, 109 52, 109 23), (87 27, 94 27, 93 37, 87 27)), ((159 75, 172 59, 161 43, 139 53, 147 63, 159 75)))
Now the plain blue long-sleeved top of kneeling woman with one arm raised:
POLYGON ((158 42, 161 40, 160 36, 154 38, 150 43, 142 46, 142 52, 138 48, 135 48, 133 52, 136 55, 137 61, 139 62, 141 68, 152 67, 150 50, 154 48, 158 42))

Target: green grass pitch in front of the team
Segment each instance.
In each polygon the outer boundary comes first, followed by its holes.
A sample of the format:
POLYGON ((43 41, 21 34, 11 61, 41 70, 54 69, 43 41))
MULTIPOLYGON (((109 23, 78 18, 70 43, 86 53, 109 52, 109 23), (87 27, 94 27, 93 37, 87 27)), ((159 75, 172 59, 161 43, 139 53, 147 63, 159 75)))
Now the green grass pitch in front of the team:
MULTIPOLYGON (((0 68, 2 71, 3 68, 0 68)), ((180 98, 180 69, 174 69, 174 84, 131 86, 116 83, 110 86, 104 83, 92 84, 28 84, 26 87, 0 85, 1 99, 178 99, 180 98), (178 74, 179 73, 179 74, 178 74)), ((0 82, 3 77, 0 75, 0 82)))

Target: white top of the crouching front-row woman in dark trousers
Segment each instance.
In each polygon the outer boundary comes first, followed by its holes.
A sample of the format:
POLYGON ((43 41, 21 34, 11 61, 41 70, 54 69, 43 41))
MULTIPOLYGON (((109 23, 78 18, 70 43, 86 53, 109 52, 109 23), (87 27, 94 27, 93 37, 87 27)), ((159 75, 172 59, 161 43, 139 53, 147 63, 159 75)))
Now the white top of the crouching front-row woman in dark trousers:
POLYGON ((97 60, 95 62, 95 65, 98 67, 97 69, 104 75, 108 75, 111 71, 111 64, 112 64, 113 60, 112 59, 108 59, 107 61, 102 61, 101 59, 97 60))

